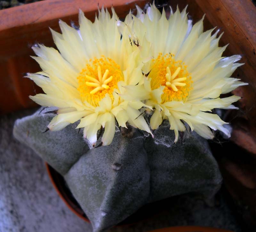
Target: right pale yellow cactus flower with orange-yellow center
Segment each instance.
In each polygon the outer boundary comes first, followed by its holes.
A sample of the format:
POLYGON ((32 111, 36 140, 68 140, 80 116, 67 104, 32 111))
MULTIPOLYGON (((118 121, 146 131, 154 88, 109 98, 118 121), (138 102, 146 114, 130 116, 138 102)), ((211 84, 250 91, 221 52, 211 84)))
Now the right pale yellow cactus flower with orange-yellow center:
POLYGON ((231 105, 239 97, 221 98, 237 86, 245 85, 239 79, 230 78, 242 64, 235 63, 240 55, 221 57, 226 46, 218 47, 219 31, 203 32, 203 19, 192 26, 186 9, 179 8, 167 19, 155 4, 145 14, 137 7, 137 17, 131 13, 125 22, 119 22, 123 37, 129 37, 132 45, 139 47, 144 63, 144 84, 126 87, 122 95, 126 100, 147 100, 154 108, 150 119, 152 129, 157 129, 163 119, 168 119, 170 129, 185 131, 184 122, 206 139, 212 139, 211 130, 220 130, 230 136, 226 124, 213 108, 235 108, 231 105), (125 30, 125 27, 128 30, 125 30))

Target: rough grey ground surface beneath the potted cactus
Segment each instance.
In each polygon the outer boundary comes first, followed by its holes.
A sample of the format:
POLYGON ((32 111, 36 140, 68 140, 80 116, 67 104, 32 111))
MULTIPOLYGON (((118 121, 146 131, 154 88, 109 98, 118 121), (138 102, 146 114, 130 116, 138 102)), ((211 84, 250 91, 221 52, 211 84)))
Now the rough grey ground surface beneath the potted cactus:
MULTIPOLYGON (((16 118, 31 114, 24 110, 0 116, 0 231, 79 232, 91 225, 69 211, 47 175, 44 162, 12 137, 16 118)), ((180 225, 200 225, 242 231, 223 193, 218 206, 208 207, 192 195, 173 198, 168 210, 133 226, 111 232, 147 231, 180 225)))

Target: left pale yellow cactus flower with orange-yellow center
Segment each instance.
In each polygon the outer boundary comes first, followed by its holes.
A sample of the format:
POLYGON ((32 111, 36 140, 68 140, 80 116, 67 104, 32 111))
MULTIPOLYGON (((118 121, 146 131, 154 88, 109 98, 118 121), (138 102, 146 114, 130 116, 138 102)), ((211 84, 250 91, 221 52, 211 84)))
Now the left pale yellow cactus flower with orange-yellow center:
POLYGON ((118 94, 126 85, 143 83, 139 48, 132 47, 128 38, 121 39, 113 16, 102 8, 95 22, 79 12, 79 31, 60 21, 62 34, 53 30, 52 36, 59 50, 36 45, 33 57, 42 72, 28 74, 45 94, 30 96, 42 106, 58 107, 48 128, 57 131, 80 120, 77 128, 84 128, 84 137, 94 146, 97 132, 105 129, 102 145, 113 140, 116 123, 126 122, 149 133, 148 124, 139 109, 141 101, 124 101, 118 94))

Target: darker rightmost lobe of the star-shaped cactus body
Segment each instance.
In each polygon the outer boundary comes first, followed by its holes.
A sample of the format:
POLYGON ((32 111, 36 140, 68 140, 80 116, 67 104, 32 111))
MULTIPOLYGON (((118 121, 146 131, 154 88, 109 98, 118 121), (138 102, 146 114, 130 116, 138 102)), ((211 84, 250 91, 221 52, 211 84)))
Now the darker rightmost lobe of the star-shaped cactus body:
POLYGON ((205 139, 195 132, 183 132, 177 143, 170 125, 154 132, 159 142, 148 137, 144 147, 150 167, 150 202, 188 192, 211 199, 219 190, 222 177, 205 139), (167 141, 164 138, 168 138, 167 141), (153 145, 152 145, 153 144, 153 145))

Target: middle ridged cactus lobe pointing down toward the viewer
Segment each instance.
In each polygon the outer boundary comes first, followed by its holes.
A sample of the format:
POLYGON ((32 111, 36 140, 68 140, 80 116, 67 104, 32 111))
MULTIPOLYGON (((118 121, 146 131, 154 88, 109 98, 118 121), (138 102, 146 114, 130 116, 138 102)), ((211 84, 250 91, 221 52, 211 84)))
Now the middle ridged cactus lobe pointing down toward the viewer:
POLYGON ((114 143, 91 149, 65 175, 95 231, 116 225, 147 203, 150 173, 139 135, 127 139, 117 131, 114 143))

